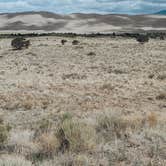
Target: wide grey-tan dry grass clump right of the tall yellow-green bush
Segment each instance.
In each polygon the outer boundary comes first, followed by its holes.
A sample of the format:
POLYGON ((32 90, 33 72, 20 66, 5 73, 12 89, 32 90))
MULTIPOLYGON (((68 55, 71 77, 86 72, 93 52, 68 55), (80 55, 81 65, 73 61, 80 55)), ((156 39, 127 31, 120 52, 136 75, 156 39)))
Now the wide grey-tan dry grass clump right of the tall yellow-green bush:
POLYGON ((100 115, 97 130, 104 132, 106 137, 117 136, 121 138, 128 130, 138 130, 144 123, 142 116, 124 116, 119 111, 110 111, 100 115))

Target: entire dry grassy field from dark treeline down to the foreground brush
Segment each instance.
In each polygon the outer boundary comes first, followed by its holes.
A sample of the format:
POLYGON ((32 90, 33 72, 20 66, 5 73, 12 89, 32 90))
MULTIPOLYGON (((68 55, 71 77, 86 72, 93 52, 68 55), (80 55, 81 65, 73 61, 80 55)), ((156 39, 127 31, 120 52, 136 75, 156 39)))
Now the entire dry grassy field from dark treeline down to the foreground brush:
POLYGON ((166 40, 29 39, 0 39, 0 166, 166 165, 166 40))

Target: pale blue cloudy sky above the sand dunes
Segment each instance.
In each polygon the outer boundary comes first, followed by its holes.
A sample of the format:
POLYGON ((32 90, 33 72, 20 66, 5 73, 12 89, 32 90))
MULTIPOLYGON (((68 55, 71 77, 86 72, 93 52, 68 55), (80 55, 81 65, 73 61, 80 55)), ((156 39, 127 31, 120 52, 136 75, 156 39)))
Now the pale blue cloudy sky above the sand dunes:
POLYGON ((0 12, 154 13, 166 9, 166 0, 0 0, 0 12))

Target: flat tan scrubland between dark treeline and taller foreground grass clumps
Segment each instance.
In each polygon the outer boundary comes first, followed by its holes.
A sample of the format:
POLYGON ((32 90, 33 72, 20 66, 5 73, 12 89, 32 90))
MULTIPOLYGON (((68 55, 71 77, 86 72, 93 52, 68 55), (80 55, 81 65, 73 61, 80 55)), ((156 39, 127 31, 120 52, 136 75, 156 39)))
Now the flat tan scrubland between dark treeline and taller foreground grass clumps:
POLYGON ((45 117, 70 112, 94 123, 109 109, 127 115, 155 112, 166 121, 166 41, 142 45, 134 39, 31 38, 13 50, 0 40, 0 113, 16 130, 45 117))

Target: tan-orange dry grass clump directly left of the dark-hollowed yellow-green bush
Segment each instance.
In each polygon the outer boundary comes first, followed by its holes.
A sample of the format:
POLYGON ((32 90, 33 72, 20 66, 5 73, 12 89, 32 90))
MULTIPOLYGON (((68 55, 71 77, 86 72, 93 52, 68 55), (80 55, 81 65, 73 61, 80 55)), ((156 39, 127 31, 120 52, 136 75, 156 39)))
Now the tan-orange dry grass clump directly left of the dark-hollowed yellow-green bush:
POLYGON ((34 162, 52 158, 59 147, 59 141, 52 130, 52 122, 49 119, 39 120, 33 130, 32 141, 36 148, 26 157, 34 162))

